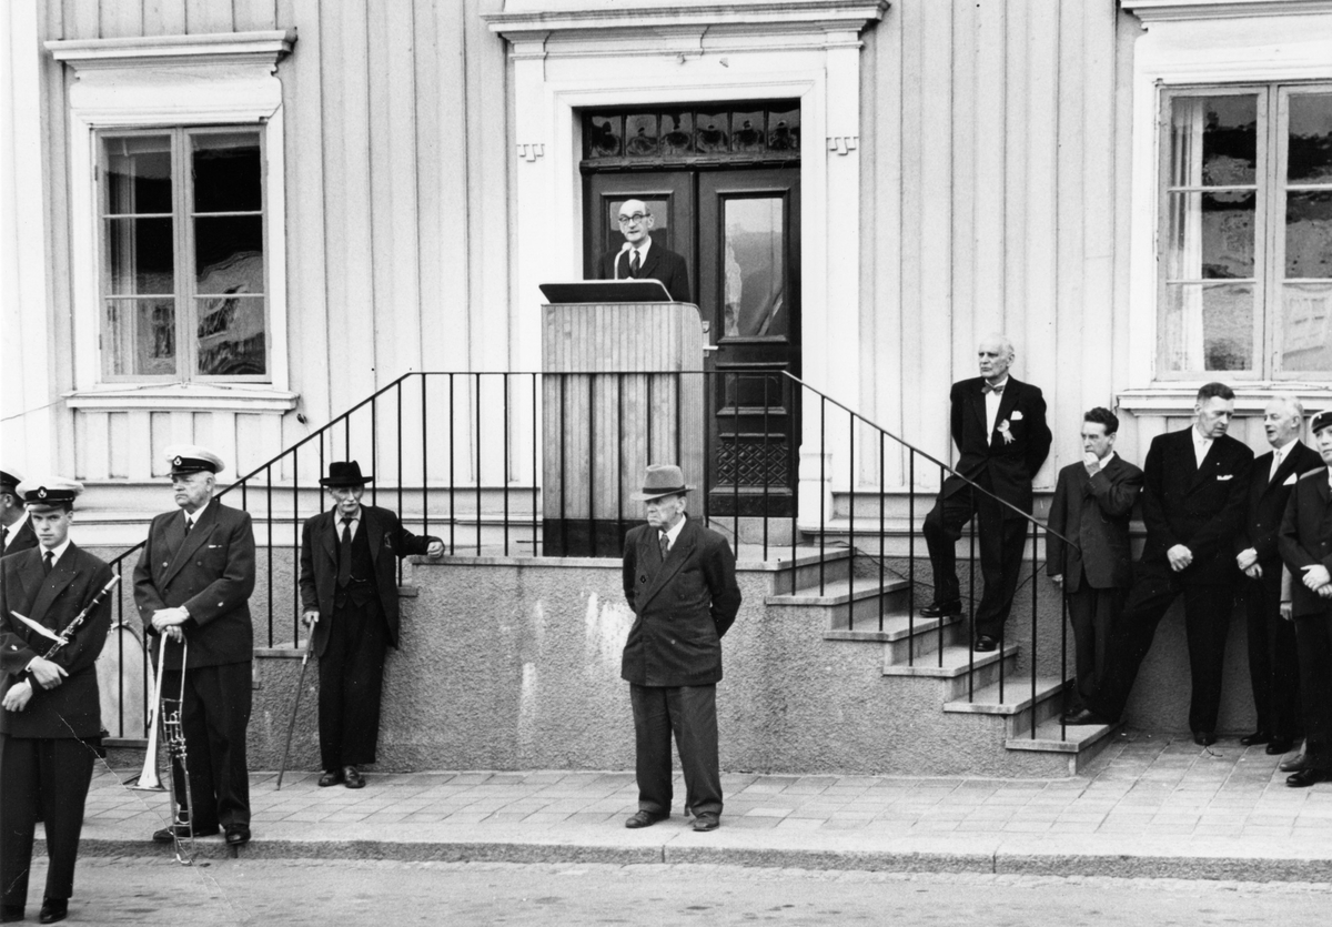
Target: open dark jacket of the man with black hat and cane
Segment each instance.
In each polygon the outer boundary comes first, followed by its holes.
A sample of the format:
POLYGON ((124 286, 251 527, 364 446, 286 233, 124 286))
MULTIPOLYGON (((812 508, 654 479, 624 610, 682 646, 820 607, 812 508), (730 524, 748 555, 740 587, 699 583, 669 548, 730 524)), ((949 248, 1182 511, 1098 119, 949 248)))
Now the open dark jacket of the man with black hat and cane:
MULTIPOLYGON (((301 607, 317 610, 320 622, 314 625, 314 653, 324 655, 329 641, 329 618, 333 614, 333 595, 337 591, 338 518, 336 510, 321 511, 305 519, 301 530, 301 607)), ((374 586, 380 609, 389 625, 389 643, 398 646, 398 577, 396 557, 425 555, 432 541, 440 538, 417 537, 402 527, 398 517, 388 509, 361 506, 361 525, 374 561, 374 586)))

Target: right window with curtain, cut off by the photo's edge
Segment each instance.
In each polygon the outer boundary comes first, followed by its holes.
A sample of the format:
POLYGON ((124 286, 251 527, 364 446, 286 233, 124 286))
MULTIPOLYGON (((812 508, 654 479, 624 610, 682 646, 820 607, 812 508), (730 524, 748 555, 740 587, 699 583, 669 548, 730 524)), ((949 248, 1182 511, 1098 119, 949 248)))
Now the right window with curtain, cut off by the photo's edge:
POLYGON ((1162 93, 1158 377, 1332 378, 1332 85, 1162 93))

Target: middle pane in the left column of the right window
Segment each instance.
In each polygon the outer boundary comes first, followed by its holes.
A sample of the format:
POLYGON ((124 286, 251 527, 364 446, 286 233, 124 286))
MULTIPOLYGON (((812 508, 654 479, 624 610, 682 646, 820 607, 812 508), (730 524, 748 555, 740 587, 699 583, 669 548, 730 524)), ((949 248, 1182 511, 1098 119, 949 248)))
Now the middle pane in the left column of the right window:
POLYGON ((1168 280, 1253 277, 1255 193, 1168 193, 1168 280))

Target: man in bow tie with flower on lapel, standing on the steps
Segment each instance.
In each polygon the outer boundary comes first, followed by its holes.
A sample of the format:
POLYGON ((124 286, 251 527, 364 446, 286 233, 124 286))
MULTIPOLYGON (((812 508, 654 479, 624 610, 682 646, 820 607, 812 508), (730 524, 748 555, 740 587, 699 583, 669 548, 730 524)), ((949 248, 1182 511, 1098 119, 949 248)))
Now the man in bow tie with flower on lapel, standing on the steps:
POLYGON ((984 579, 975 647, 987 651, 999 646, 1018 590, 1027 539, 1022 513, 1031 514, 1031 481, 1046 462, 1051 436, 1040 389, 1008 376, 1012 342, 1002 334, 990 336, 980 342, 978 354, 980 376, 954 384, 950 394, 952 441, 958 445, 955 470, 960 475, 943 481, 939 499, 924 519, 934 602, 920 614, 962 614, 955 550, 962 527, 975 514, 984 579), (976 491, 972 483, 984 491, 976 491))

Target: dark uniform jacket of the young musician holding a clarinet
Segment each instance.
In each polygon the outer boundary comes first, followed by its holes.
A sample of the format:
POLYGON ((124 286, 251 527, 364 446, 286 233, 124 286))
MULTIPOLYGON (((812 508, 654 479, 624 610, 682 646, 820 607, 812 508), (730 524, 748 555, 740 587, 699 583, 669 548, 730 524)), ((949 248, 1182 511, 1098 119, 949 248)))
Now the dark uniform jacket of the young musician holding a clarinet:
MULTIPOLYGON (((24 550, 0 562, 0 697, 24 678, 33 657, 53 642, 37 634, 13 613, 59 634, 111 581, 101 559, 71 543, 47 575, 39 550, 24 550)), ((23 738, 87 738, 101 731, 97 697, 97 654, 111 629, 111 602, 105 595, 51 661, 69 674, 55 689, 33 682, 32 699, 23 711, 0 709, 0 731, 23 738)))

